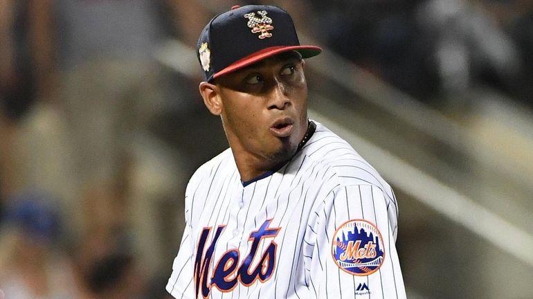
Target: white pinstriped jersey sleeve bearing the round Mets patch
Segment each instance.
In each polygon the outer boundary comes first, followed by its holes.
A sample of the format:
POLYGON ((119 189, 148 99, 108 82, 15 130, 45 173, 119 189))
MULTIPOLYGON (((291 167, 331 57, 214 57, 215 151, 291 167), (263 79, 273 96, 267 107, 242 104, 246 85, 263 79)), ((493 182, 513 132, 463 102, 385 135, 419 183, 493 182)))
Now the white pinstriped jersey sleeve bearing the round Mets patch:
POLYGON ((309 288, 316 298, 406 298, 395 247, 395 202, 375 185, 330 192, 310 230, 309 288), (327 295, 326 295, 327 294, 327 295))

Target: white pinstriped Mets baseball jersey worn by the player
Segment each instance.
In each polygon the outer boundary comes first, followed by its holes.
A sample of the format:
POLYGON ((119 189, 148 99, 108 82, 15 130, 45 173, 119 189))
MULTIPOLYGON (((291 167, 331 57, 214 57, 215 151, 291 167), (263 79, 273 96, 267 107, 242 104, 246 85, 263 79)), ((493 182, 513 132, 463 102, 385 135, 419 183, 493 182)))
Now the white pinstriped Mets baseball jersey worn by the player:
POLYGON ((390 185, 320 123, 275 172, 231 149, 192 175, 166 289, 175 298, 406 298, 390 185))

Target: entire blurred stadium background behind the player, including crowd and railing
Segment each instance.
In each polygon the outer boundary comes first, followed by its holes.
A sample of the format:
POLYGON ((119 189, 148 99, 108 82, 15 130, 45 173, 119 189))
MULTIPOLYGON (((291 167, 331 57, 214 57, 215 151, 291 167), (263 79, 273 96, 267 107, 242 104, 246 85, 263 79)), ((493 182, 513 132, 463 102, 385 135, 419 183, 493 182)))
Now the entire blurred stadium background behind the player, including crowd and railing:
MULTIPOLYGON (((194 47, 246 3, 0 0, 7 299, 168 298, 184 188, 228 146, 194 47)), ((309 113, 395 188, 408 298, 533 298, 533 1, 255 3, 323 46, 309 113)))

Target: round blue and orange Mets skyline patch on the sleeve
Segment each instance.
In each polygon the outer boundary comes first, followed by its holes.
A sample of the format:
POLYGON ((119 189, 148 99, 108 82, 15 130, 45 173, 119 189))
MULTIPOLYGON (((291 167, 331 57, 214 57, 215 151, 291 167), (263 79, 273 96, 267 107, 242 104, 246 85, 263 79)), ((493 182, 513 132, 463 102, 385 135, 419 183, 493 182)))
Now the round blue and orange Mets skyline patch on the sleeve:
POLYGON ((352 219, 337 228, 332 240, 332 257, 343 271, 366 276, 383 264, 384 247, 377 226, 364 219, 352 219))

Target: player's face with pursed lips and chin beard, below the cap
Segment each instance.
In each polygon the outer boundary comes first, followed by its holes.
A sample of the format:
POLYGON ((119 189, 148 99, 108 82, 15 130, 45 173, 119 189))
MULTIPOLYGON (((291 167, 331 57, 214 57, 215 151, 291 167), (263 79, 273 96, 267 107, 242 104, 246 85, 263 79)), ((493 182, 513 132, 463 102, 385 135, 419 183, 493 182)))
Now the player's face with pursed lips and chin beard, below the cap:
POLYGON ((216 79, 222 123, 235 154, 284 162, 307 131, 307 82, 296 52, 216 79))

